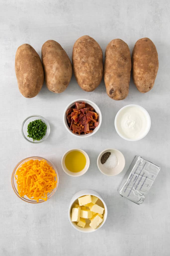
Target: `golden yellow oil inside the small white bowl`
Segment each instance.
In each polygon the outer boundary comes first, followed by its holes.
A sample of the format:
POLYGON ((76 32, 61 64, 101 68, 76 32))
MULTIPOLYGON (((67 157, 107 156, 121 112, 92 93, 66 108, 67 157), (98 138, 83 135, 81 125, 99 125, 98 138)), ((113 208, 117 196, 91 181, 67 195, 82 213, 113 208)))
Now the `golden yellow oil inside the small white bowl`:
POLYGON ((71 151, 66 155, 65 165, 70 172, 78 173, 84 169, 86 157, 80 151, 71 151))

